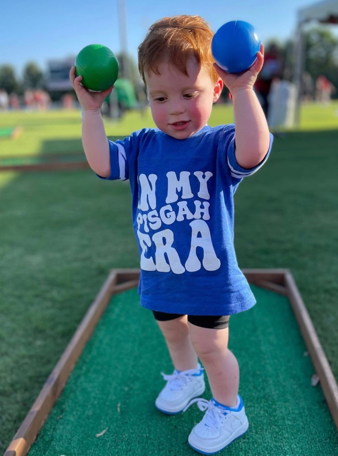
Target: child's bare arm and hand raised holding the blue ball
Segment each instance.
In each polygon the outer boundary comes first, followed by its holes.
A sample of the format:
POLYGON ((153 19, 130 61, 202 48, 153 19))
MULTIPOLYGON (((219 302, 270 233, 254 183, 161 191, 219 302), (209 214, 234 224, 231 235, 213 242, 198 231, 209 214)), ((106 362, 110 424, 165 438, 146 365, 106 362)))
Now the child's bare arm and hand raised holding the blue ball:
POLYGON ((217 73, 229 88, 235 112, 236 161, 245 169, 257 166, 265 157, 270 135, 265 115, 253 90, 263 66, 263 47, 248 71, 240 75, 225 73, 216 64, 217 73))

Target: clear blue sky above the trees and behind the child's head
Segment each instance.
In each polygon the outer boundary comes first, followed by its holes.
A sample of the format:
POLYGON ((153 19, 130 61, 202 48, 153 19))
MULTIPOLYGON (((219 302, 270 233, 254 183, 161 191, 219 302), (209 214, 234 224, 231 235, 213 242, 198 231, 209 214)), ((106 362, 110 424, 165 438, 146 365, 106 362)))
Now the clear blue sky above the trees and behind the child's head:
MULTIPOLYGON (((200 15, 216 31, 225 22, 251 22, 264 42, 285 41, 295 31, 297 10, 311 0, 125 0, 128 53, 137 47, 149 26, 164 16, 200 15)), ((316 1, 315 1, 316 3, 316 1)), ((21 76, 27 62, 46 70, 49 59, 75 56, 82 47, 98 43, 118 53, 118 0, 12 0, 0 9, 0 65, 10 64, 21 76)))

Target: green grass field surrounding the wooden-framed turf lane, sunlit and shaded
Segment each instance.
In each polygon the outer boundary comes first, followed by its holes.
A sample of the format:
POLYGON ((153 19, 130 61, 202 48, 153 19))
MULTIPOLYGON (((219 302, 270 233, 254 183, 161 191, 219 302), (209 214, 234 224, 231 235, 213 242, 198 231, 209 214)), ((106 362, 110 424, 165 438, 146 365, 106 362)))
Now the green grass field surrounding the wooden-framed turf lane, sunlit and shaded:
MULTIPOLYGON (((215 106, 210 124, 232 122, 215 106)), ((80 111, 0 113, 0 156, 81 151, 80 111)), ((108 136, 153 126, 106 121, 108 136)), ((338 103, 308 104, 235 196, 242 268, 290 268, 338 378, 338 103)), ((5 451, 109 269, 138 267, 127 182, 90 170, 0 173, 0 452, 5 451)), ((283 322, 281 321, 281 324, 283 322)), ((283 353, 276 353, 283 356, 283 353)))

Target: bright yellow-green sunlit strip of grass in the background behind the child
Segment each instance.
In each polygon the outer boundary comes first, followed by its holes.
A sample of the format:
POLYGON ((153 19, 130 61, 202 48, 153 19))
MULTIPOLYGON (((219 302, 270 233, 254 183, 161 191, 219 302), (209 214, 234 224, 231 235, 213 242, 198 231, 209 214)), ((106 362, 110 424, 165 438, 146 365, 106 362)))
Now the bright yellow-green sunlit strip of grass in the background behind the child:
MULTIPOLYGON (((232 104, 216 104, 210 116, 211 126, 234 122, 232 104)), ((128 136, 133 131, 155 126, 150 109, 143 113, 127 112, 121 120, 104 118, 108 136, 128 136)), ((82 151, 81 145, 81 111, 9 111, 0 112, 0 128, 21 126, 23 131, 15 139, 0 140, 0 156, 4 155, 38 155, 45 152, 60 152, 53 150, 58 140, 76 140, 69 147, 82 151), (54 142, 53 142, 54 141, 54 142), (46 142, 49 145, 46 146, 46 142)), ((301 123, 290 131, 332 130, 338 128, 338 100, 330 104, 307 103, 302 105, 301 123)))

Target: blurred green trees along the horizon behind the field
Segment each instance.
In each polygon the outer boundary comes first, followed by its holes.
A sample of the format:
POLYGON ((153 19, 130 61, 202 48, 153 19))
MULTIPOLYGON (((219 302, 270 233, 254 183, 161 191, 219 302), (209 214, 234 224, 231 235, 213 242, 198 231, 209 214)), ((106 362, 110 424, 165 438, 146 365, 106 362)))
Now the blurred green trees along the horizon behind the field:
MULTIPOLYGON (((292 81, 295 66, 294 42, 287 40, 279 43, 271 40, 265 47, 274 43, 284 59, 284 78, 292 81)), ((315 82, 323 74, 338 89, 338 38, 332 31, 323 26, 313 27, 305 32, 306 57, 304 72, 311 75, 315 82)), ((135 87, 140 84, 137 63, 131 57, 117 56, 119 62, 128 63, 128 77, 135 87), (126 60, 127 59, 127 60, 126 60)), ((0 65, 0 88, 7 93, 22 95, 25 89, 45 88, 46 75, 34 62, 28 62, 23 70, 22 78, 17 78, 15 70, 10 65, 0 65)), ((338 97, 338 90, 335 94, 338 97)))

